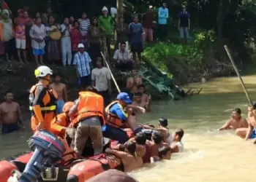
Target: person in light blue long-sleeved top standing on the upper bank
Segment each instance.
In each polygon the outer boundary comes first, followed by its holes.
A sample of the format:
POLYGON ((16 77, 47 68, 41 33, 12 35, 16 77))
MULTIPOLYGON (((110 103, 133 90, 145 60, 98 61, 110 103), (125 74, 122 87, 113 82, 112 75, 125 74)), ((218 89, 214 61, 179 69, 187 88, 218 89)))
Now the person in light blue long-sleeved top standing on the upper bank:
POLYGON ((166 3, 162 4, 162 7, 158 9, 158 28, 159 39, 164 41, 167 36, 167 19, 169 17, 169 10, 166 7, 166 3))

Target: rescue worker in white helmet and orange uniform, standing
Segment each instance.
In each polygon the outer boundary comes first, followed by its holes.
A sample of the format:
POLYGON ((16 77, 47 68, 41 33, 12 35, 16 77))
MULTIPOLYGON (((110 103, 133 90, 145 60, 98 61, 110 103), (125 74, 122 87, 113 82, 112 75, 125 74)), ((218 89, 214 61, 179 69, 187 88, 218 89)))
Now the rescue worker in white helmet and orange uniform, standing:
POLYGON ((53 71, 48 66, 39 66, 34 71, 38 83, 29 91, 29 109, 32 114, 31 128, 33 132, 44 129, 50 131, 50 122, 56 117, 58 95, 48 87, 52 74, 53 71))

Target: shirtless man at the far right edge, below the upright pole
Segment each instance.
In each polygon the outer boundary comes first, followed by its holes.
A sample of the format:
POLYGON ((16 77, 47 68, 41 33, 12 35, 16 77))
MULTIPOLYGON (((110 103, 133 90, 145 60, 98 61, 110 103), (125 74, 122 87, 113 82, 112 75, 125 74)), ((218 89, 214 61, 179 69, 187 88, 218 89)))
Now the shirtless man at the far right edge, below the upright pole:
MULTIPOLYGON (((248 139, 255 139, 256 138, 256 104, 248 107, 248 128, 238 128, 236 129, 236 135, 241 138, 244 138, 245 141, 248 139)), ((253 141, 255 143, 255 140, 253 141)))

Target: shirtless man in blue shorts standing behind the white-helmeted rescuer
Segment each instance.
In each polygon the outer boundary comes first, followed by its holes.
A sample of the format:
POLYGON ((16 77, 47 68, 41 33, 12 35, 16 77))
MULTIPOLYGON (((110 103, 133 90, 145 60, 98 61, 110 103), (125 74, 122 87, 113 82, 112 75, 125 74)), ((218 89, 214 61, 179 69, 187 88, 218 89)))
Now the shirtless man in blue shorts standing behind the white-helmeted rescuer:
POLYGON ((58 94, 57 101, 57 112, 58 114, 62 113, 62 108, 64 103, 67 102, 67 87, 66 84, 61 83, 61 76, 56 74, 54 77, 54 82, 49 85, 49 87, 55 90, 58 94))

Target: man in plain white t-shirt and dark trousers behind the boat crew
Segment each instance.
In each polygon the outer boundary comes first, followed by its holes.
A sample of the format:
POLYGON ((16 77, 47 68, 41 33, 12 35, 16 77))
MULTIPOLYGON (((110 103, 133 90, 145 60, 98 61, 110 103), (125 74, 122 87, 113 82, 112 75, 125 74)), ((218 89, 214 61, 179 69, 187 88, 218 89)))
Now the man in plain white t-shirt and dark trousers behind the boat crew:
POLYGON ((111 101, 111 76, 108 68, 103 66, 102 58, 97 58, 97 68, 91 71, 91 82, 96 87, 99 95, 104 98, 105 106, 111 101))

